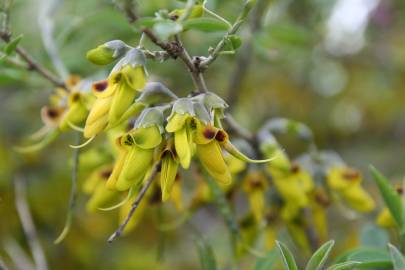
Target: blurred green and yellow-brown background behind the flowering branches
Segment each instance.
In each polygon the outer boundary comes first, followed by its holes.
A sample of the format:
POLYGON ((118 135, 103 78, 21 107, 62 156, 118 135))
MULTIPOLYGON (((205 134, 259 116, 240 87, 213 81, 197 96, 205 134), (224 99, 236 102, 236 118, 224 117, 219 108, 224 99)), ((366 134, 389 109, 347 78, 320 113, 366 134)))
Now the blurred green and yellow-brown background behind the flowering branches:
MULTIPOLYGON (((54 36, 63 63, 81 77, 108 72, 85 59, 87 50, 112 39, 136 44, 139 34, 107 0, 15 0, 11 27, 24 34, 21 45, 52 69, 41 38, 44 8, 52 13, 54 36), (52 5, 52 4, 51 4, 52 5)), ((179 7, 177 1, 139 0, 138 13, 179 7)), ((208 0, 212 10, 233 21, 241 0, 208 0)), ((393 181, 404 176, 405 160, 405 2, 401 0, 263 0, 255 19, 240 31, 243 45, 206 73, 208 87, 232 103, 230 111, 255 131, 272 117, 302 121, 312 128, 321 149, 334 149, 365 175, 367 189, 378 198, 367 167, 374 164, 393 181), (242 56, 238 56, 242 55, 242 56)), ((194 55, 206 55, 223 33, 187 32, 184 43, 194 55)), ((3 46, 2 44, 1 46, 3 46)), ((147 47, 154 48, 147 43, 147 47)), ((192 88, 178 61, 148 62, 154 80, 179 96, 192 88)), ((14 204, 13 181, 27 186, 29 205, 51 269, 198 269, 193 233, 187 227, 161 233, 152 224, 158 207, 130 235, 113 244, 106 239, 117 226, 115 213, 88 214, 79 194, 78 211, 69 236, 54 245, 65 221, 70 190, 73 134, 64 134, 39 153, 19 155, 12 147, 41 125, 39 111, 53 87, 38 75, 0 62, 0 256, 27 251, 14 204)), ((282 139, 292 156, 303 146, 282 139)), ((79 182, 85 172, 80 172, 79 182)), ((170 206, 168 206, 170 208, 170 206)), ((360 238, 359 218, 336 217, 331 238, 343 248, 360 238), (342 227, 343 226, 343 227, 342 227), (343 228, 343 229, 342 229, 343 228), (353 233, 351 233, 353 231, 353 233), (353 238, 353 234, 358 237, 353 238)), ((332 216, 332 219, 335 217, 332 216)), ((214 208, 191 221, 226 261, 226 230, 214 208)), ((23 256, 20 254, 20 256, 23 256)), ((23 257, 21 257, 23 258, 23 257)), ((250 269, 245 258, 241 269, 250 269)))

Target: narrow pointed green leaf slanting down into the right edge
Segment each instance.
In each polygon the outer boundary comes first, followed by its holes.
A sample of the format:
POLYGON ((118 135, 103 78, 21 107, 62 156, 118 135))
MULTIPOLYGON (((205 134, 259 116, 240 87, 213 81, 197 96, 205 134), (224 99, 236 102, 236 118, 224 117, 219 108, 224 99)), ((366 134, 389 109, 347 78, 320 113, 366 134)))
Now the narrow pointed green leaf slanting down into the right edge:
POLYGON ((401 197, 391 186, 388 179, 386 179, 376 168, 370 166, 374 180, 377 182, 378 189, 380 190, 381 196, 384 199, 385 205, 390 210, 391 215, 393 216, 395 223, 399 229, 403 229, 403 213, 402 213, 402 203, 401 197))

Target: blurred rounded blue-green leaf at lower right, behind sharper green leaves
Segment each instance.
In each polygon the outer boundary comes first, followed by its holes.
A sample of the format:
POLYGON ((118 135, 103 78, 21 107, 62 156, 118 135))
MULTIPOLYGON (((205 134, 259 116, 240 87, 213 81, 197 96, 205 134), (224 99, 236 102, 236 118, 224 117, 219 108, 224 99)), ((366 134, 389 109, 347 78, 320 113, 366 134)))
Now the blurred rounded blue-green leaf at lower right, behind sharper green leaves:
POLYGON ((385 248, 388 241, 389 236, 387 231, 371 223, 364 225, 360 232, 362 246, 385 248))

